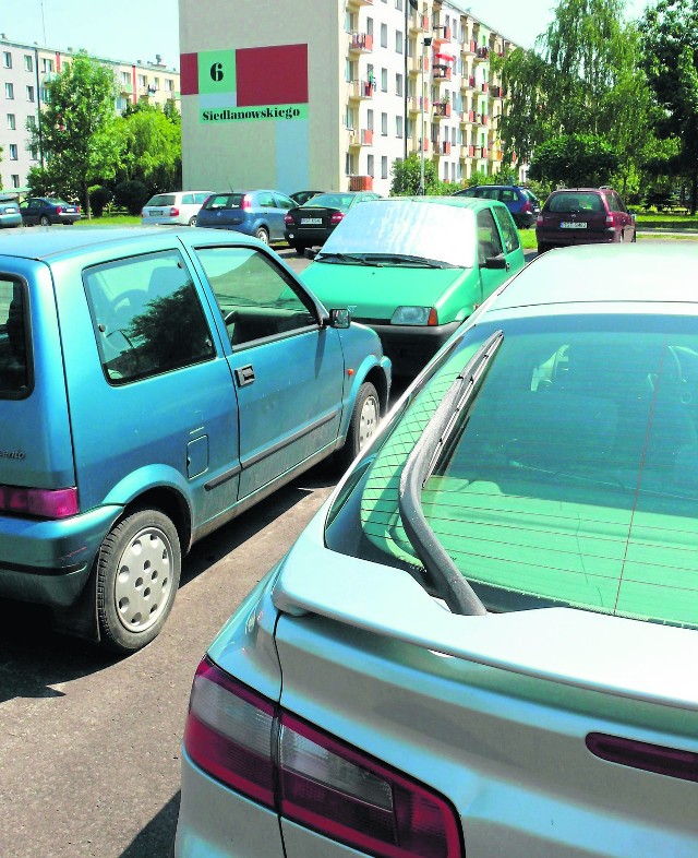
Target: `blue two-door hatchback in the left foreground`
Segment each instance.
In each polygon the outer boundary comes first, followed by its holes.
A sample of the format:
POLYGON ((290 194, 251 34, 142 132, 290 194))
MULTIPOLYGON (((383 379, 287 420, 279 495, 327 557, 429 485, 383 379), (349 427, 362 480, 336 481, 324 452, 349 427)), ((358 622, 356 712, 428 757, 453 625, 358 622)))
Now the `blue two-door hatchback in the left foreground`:
POLYGON ((376 334, 268 248, 186 227, 20 233, 0 253, 0 596, 118 652, 194 541, 385 410, 376 334))

